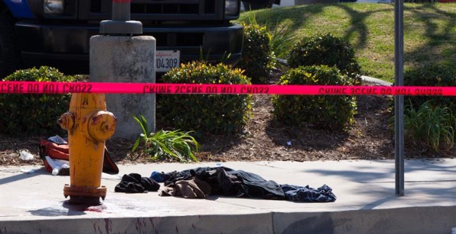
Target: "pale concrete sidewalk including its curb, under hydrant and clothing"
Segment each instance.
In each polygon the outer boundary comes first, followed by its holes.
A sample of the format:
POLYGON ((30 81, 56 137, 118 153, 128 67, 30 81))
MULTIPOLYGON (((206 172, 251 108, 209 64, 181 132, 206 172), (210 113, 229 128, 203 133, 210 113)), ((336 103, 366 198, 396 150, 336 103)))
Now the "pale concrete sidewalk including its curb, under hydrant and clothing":
POLYGON ((451 233, 456 227, 456 159, 406 160, 404 196, 395 195, 394 160, 221 163, 278 184, 327 184, 337 196, 331 203, 114 192, 124 174, 219 165, 119 165, 119 175, 103 175, 108 194, 99 206, 67 204, 69 176, 1 167, 0 233, 451 233))

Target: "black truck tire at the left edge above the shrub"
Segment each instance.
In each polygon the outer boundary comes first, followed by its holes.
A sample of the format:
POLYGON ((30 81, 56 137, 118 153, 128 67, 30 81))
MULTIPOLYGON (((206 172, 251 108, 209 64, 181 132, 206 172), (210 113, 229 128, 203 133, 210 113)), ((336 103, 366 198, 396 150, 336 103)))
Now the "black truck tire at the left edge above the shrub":
POLYGON ((9 13, 0 14, 0 80, 21 67, 17 50, 15 24, 9 13))

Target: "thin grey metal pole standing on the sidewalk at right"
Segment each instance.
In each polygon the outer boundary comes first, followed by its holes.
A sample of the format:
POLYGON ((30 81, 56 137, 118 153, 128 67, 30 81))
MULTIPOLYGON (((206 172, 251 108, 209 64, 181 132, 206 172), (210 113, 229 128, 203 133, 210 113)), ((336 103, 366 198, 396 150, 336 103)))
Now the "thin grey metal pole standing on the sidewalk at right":
MULTIPOLYGON (((395 85, 403 86, 403 0, 395 0, 395 85)), ((396 195, 404 187, 403 96, 395 96, 395 167, 396 195)))

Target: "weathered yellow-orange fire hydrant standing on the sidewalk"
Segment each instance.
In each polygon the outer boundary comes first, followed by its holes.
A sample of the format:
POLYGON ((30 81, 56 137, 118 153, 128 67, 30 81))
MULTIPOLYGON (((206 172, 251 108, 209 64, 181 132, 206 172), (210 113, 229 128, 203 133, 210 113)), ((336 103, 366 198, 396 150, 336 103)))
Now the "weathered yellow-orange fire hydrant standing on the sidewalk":
POLYGON ((64 195, 70 203, 95 204, 106 197, 101 186, 104 147, 114 134, 115 120, 106 111, 104 94, 73 94, 69 111, 57 120, 68 130, 70 184, 65 184, 64 195))

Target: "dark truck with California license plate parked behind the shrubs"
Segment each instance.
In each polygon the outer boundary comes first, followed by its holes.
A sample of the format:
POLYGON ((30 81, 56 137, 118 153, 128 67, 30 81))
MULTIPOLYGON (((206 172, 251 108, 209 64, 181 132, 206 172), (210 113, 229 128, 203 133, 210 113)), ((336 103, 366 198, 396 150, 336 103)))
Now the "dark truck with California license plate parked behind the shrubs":
MULTIPOLYGON (((112 4, 112 0, 1 0, 0 76, 40 65, 88 74, 89 39, 99 34, 100 21, 111 19, 112 4)), ((143 35, 155 37, 157 52, 170 54, 174 61, 177 56, 177 64, 198 59, 201 52, 209 61, 237 63, 243 27, 230 21, 239 14, 240 0, 131 1, 131 19, 142 22, 143 35)))

